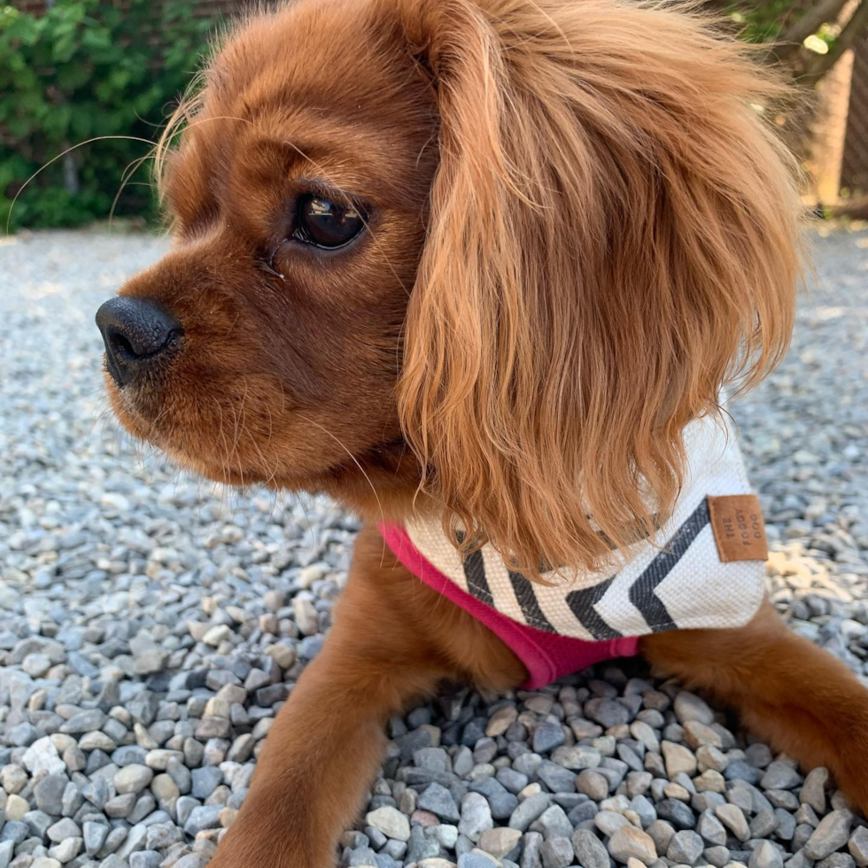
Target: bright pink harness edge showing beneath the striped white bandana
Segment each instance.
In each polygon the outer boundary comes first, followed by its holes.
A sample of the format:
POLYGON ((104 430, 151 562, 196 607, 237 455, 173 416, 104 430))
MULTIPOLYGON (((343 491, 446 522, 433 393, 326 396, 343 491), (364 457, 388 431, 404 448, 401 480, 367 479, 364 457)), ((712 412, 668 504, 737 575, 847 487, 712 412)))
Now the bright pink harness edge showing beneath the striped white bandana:
POLYGON ((407 531, 398 524, 379 525, 380 533, 398 560, 414 576, 442 593, 503 640, 528 670, 528 690, 551 684, 572 672, 614 657, 632 657, 639 653, 639 639, 623 637, 605 642, 586 642, 570 636, 554 636, 534 627, 518 624, 476 597, 463 591, 444 576, 414 545, 407 531))

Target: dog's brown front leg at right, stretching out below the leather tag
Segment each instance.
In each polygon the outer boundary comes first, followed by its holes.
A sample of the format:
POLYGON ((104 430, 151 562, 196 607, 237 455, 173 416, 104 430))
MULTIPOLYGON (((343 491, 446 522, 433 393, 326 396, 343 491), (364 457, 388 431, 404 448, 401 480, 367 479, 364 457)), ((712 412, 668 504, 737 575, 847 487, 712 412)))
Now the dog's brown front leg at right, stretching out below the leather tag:
POLYGON ((825 765, 868 815, 868 690, 788 630, 769 602, 739 630, 658 633, 641 649, 663 672, 737 709, 749 730, 806 769, 825 765))

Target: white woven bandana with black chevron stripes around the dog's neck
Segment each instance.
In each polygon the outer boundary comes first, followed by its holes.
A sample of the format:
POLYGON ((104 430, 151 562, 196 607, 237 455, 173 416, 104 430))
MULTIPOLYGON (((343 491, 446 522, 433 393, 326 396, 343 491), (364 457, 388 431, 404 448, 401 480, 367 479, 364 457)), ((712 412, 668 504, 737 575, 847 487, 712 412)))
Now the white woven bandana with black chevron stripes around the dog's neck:
POLYGON ((763 600, 761 561, 721 562, 709 495, 746 494, 748 477, 728 422, 701 419, 685 430, 683 491, 663 527, 607 573, 561 570, 555 586, 531 584, 487 545, 462 563, 436 519, 407 523, 420 553, 448 579, 519 624, 576 639, 642 636, 686 628, 739 627, 763 600))

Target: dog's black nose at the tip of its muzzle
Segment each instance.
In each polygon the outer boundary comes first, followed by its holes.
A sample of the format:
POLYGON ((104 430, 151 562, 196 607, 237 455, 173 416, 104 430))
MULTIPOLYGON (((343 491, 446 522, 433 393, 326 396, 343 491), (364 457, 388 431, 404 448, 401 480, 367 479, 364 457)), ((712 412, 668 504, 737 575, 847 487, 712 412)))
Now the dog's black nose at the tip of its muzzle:
POLYGON ((112 298, 97 311, 105 359, 114 382, 125 386, 178 346, 181 326, 148 298, 112 298))

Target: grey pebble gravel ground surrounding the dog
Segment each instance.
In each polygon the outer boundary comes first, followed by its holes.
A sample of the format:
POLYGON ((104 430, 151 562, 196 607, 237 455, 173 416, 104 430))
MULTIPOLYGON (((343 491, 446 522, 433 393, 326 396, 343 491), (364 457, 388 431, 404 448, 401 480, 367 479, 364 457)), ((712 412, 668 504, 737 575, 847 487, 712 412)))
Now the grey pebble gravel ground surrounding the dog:
MULTIPOLYGON (((117 430, 93 314, 164 242, 0 244, 0 868, 199 868, 322 646, 356 522, 179 477, 117 430)), ((816 248, 794 349, 735 415, 773 599, 865 675, 868 230, 816 248)), ((639 662, 390 728, 344 865, 868 864, 825 770, 639 662)))

